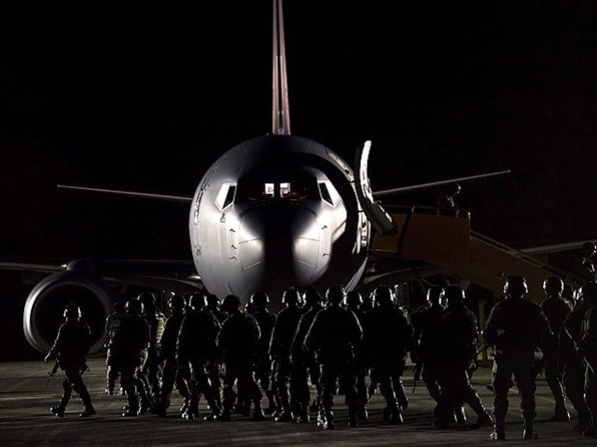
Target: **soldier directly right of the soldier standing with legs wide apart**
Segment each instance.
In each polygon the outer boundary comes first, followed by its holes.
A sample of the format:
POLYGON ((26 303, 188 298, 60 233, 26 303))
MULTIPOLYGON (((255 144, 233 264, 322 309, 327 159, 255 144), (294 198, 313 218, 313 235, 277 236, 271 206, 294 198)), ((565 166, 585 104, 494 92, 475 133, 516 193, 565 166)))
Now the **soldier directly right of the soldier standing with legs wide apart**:
POLYGON ((558 350, 560 346, 560 328, 562 327, 564 318, 572 311, 572 306, 562 298, 564 283, 557 276, 550 276, 543 281, 543 290, 545 291, 546 299, 543 299, 539 306, 541 306, 541 310, 545 313, 553 334, 553 337, 546 344, 543 351, 545 378, 553 394, 553 399, 555 399, 555 412, 551 420, 569 421, 570 413, 568 413, 565 404, 558 350))

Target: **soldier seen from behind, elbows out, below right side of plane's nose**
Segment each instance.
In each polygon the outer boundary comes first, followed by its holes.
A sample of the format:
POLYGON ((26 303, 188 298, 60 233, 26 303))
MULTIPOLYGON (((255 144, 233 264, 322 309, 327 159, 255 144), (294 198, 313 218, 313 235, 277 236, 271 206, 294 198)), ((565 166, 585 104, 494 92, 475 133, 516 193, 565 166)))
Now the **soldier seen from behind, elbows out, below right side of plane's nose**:
POLYGON ((356 315, 340 305, 344 296, 344 287, 341 285, 329 287, 326 293, 327 307, 317 313, 305 337, 306 348, 315 352, 320 365, 322 408, 318 415, 318 426, 324 429, 334 428, 332 406, 338 379, 346 394, 348 425, 358 426, 357 412, 361 404, 355 387, 353 347, 363 339, 363 329, 356 315))

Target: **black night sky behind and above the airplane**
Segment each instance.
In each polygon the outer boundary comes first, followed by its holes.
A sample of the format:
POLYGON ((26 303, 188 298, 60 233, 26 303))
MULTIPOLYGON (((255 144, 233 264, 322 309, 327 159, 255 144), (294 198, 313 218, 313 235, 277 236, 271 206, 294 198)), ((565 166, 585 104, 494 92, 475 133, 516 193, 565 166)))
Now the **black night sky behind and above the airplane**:
MULTIPOLYGON (((190 197, 270 131, 271 2, 213 3, 1 7, 2 258, 190 257, 186 206, 56 184, 190 197)), ((374 190, 512 169, 463 184, 472 228, 595 238, 594 2, 399 3, 287 0, 292 133, 349 164, 371 139, 374 190)), ((0 275, 15 343, 28 289, 0 275)))

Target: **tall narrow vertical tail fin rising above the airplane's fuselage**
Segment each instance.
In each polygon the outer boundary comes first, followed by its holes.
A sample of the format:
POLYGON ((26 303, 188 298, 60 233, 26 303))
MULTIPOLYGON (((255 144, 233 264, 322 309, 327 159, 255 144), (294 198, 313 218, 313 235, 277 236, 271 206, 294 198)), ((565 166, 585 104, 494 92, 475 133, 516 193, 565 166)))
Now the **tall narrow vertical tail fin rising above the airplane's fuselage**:
POLYGON ((288 77, 286 72, 282 0, 273 1, 272 133, 275 135, 290 135, 290 110, 288 105, 288 77))

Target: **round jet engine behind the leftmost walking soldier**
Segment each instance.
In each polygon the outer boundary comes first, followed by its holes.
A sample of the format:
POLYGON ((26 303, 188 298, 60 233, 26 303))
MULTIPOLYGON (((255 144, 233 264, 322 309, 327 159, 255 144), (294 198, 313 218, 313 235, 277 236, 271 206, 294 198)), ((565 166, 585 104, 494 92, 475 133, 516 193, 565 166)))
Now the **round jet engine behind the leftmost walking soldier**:
POLYGON ((64 308, 71 302, 79 305, 82 318, 91 329, 89 356, 101 353, 106 340, 106 316, 113 312, 113 294, 101 278, 80 271, 54 273, 30 292, 23 311, 27 342, 38 351, 48 352, 64 322, 64 308))

